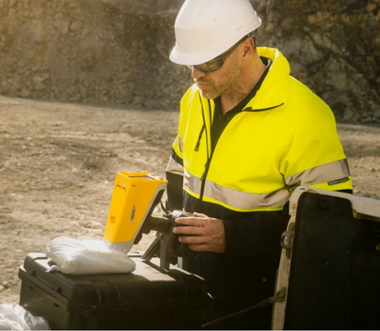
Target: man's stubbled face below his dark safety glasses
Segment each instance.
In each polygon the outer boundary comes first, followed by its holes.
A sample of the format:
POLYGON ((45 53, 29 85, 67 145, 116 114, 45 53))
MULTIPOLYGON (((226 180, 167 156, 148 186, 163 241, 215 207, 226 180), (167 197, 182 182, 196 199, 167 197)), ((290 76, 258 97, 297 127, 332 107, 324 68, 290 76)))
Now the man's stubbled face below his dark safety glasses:
POLYGON ((215 99, 229 91, 240 77, 241 66, 236 59, 236 51, 231 54, 221 68, 211 73, 203 73, 196 67, 193 68, 191 76, 196 82, 202 97, 215 99))

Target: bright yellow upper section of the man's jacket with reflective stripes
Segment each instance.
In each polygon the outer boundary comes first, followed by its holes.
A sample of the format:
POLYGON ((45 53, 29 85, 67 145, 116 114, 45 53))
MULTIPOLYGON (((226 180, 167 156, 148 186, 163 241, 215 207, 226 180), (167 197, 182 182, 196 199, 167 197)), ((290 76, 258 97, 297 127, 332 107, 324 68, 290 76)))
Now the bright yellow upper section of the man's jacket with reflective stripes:
POLYGON ((183 189, 192 198, 243 212, 281 210, 298 185, 352 189, 329 106, 289 75, 278 50, 258 52, 272 66, 212 151, 213 101, 196 85, 187 91, 167 171, 183 173, 183 189))

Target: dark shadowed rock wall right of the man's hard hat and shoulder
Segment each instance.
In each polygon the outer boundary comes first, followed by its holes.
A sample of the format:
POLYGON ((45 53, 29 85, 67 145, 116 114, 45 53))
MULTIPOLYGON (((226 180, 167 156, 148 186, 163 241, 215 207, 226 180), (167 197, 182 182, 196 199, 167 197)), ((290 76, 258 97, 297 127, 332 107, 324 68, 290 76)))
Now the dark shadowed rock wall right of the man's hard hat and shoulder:
POLYGON ((339 120, 380 122, 379 9, 379 0, 269 0, 260 41, 280 48, 339 120))

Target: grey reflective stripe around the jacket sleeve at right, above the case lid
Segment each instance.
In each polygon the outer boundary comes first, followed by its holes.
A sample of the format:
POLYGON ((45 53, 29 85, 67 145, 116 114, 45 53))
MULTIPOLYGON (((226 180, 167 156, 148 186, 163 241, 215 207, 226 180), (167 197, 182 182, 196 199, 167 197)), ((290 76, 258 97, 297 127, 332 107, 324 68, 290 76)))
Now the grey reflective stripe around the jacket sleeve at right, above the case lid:
POLYGON ((347 159, 323 164, 313 169, 305 170, 285 178, 289 187, 310 186, 324 182, 332 182, 350 176, 347 159))

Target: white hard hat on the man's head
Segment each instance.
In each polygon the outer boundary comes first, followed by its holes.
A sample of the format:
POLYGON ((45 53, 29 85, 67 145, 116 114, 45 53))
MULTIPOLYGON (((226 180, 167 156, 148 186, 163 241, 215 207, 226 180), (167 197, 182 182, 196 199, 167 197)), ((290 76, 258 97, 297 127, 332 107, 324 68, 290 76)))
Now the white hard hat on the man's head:
POLYGON ((175 19, 170 59, 184 65, 208 62, 260 25, 249 0, 186 0, 175 19))

